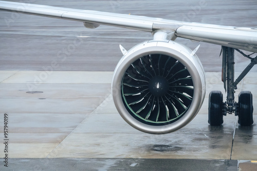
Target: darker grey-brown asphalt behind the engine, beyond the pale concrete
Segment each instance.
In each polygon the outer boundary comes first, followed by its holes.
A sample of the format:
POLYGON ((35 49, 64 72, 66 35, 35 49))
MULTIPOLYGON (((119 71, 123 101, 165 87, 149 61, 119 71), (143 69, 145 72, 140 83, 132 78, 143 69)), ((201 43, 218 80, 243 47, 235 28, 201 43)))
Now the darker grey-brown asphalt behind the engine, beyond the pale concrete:
MULTIPOLYGON (((23 1, 22 1, 23 2, 23 1)), ((24 1, 25 2, 25 1, 24 1)), ((34 4, 97 10, 237 27, 257 27, 255 1, 28 1, 34 4)), ((1 12, 0 70, 44 70, 52 61, 54 71, 114 71, 122 54, 119 44, 130 49, 152 39, 151 33, 100 26, 86 29, 68 20, 1 12), (81 42, 74 46, 74 42, 81 42)), ((220 72, 221 47, 178 38, 195 49, 206 72, 220 72), (210 62, 211 59, 211 62, 210 62)), ((236 54, 236 70, 249 60, 236 54)), ((243 66, 243 67, 242 67, 243 66)), ((256 71, 256 70, 255 70, 256 71)))

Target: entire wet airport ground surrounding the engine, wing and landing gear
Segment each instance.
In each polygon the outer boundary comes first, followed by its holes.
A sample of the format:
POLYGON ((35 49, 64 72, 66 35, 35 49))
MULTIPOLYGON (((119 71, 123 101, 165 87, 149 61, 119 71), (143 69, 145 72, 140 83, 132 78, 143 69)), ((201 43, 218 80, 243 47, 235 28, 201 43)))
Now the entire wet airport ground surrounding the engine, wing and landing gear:
MULTIPOLYGON (((137 1, 137 6, 134 1, 34 3, 256 27, 254 1, 137 1), (195 11, 200 2, 206 5, 195 11)), ((150 135, 123 121, 111 96, 113 70, 122 55, 118 45, 129 49, 151 39, 150 33, 106 26, 88 30, 81 23, 8 12, 0 12, 0 21, 0 170, 255 169, 256 110, 249 127, 238 125, 234 115, 224 117, 222 126, 207 122, 210 91, 225 94, 221 47, 178 39, 192 49, 201 44, 197 54, 207 72, 205 101, 187 126, 167 135, 150 135), (12 20, 7 24, 8 18, 12 20), (74 41, 81 44, 74 47, 74 41), (2 143, 5 114, 8 168, 2 143)), ((249 62, 236 55, 237 76, 249 62)), ((256 71, 238 84, 235 95, 250 90, 254 108, 256 71)))

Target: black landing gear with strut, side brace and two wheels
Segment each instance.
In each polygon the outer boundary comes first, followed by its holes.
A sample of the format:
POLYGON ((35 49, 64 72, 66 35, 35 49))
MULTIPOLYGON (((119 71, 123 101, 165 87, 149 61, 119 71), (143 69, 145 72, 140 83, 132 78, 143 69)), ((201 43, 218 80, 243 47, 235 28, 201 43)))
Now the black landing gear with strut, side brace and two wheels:
POLYGON ((244 54, 242 51, 222 47, 223 63, 222 63, 222 81, 224 89, 227 91, 227 101, 223 102, 223 94, 220 91, 212 91, 209 95, 209 119, 210 125, 221 125, 223 116, 234 113, 238 116, 238 123, 241 126, 250 126, 253 124, 253 105, 252 94, 250 91, 242 91, 238 96, 238 102, 234 100, 234 93, 237 89, 237 84, 246 76, 251 68, 257 64, 257 56, 255 58, 244 54), (251 63, 234 81, 234 50, 238 51, 245 57, 251 59, 251 63))

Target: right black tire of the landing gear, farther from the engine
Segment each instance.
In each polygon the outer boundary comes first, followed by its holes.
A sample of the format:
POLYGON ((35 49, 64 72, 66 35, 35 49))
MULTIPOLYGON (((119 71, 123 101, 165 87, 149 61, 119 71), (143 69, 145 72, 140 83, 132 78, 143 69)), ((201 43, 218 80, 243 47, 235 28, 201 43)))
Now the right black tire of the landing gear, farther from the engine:
POLYGON ((253 124, 252 113, 252 93, 250 91, 242 91, 238 97, 238 123, 241 126, 253 124))

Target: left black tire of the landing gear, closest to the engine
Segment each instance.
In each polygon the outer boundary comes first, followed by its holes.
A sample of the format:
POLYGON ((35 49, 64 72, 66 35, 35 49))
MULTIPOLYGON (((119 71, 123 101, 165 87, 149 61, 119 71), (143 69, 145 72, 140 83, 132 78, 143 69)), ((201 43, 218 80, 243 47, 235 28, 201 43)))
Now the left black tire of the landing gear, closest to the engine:
POLYGON ((221 91, 211 91, 209 95, 209 119, 212 126, 223 124, 223 94, 221 91))

